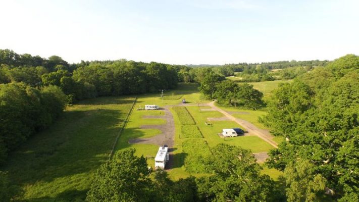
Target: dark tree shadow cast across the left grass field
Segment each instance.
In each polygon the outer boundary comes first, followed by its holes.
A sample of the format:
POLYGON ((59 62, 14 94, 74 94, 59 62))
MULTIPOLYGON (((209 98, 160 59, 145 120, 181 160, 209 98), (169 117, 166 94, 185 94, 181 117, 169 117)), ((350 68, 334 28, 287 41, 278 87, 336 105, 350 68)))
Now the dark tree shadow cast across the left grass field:
POLYGON ((41 184, 44 191, 54 189, 46 183, 55 179, 59 184, 90 180, 89 173, 108 160, 124 116, 107 109, 65 112, 11 153, 1 169, 14 184, 41 184))

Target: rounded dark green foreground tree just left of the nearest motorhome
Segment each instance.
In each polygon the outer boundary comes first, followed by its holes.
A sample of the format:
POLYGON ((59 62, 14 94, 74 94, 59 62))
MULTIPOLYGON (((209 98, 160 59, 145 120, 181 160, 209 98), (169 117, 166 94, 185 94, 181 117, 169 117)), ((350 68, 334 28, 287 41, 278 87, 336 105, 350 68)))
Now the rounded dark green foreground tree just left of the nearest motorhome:
POLYGON ((86 201, 150 201, 151 181, 146 159, 135 149, 118 151, 93 177, 86 201))

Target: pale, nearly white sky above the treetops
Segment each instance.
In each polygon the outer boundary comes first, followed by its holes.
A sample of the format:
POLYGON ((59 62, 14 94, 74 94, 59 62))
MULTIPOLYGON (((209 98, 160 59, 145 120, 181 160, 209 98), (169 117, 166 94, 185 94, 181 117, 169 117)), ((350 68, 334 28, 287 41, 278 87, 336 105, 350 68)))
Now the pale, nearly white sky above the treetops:
POLYGON ((359 1, 0 1, 0 49, 169 64, 359 55, 359 1))

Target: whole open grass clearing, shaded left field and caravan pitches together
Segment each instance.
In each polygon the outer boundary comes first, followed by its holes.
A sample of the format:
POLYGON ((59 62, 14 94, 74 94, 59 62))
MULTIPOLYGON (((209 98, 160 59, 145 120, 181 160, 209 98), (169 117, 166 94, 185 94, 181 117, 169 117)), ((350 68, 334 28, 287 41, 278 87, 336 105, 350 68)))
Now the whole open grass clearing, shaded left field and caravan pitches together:
MULTIPOLYGON (((180 87, 180 90, 166 92, 167 99, 161 98, 160 93, 138 96, 115 150, 136 148, 136 154, 147 157, 148 165, 153 166, 153 157, 156 156, 158 145, 164 143, 155 141, 156 136, 165 135, 165 131, 167 137, 174 138, 174 141, 171 140, 173 147, 168 173, 172 179, 179 179, 190 175, 209 175, 201 161, 203 157, 210 155, 210 148, 219 143, 241 146, 251 149, 253 153, 265 153, 273 148, 254 135, 225 139, 219 137, 218 133, 223 128, 242 126, 226 120, 227 118, 218 111, 203 111, 212 108, 206 105, 209 100, 203 99, 197 90, 193 90, 196 89, 196 85, 181 84, 180 87), (188 103, 181 104, 182 98, 186 98, 188 103), (146 104, 159 105, 166 110, 136 110, 146 104), (174 106, 185 107, 193 120, 192 125, 181 124, 182 115, 179 116, 175 112, 174 106), (212 118, 212 125, 205 124, 209 118, 212 118), (133 142, 134 139, 154 141, 138 144, 133 142)), ((69 107, 51 128, 36 134, 14 151, 2 169, 9 171, 12 182, 24 188, 24 201, 84 199, 94 171, 109 158, 112 144, 133 100, 134 97, 84 100, 69 107)), ((233 116, 253 115, 250 111, 243 112, 246 113, 234 113, 233 116)), ((280 174, 268 168, 265 168, 263 173, 274 179, 280 174)))

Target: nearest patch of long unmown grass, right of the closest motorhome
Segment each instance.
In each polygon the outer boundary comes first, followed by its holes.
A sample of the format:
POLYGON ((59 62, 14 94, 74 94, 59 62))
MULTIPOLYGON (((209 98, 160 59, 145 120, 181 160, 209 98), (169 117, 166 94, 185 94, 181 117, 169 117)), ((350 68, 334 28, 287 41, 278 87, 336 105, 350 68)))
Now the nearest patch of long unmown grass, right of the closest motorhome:
POLYGON ((199 138, 188 139, 182 143, 183 152, 186 154, 184 159, 185 170, 189 173, 208 172, 205 159, 211 156, 210 148, 206 141, 199 138))

